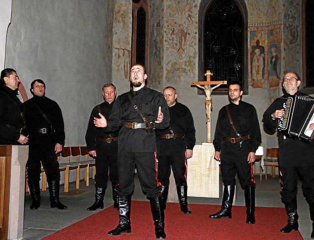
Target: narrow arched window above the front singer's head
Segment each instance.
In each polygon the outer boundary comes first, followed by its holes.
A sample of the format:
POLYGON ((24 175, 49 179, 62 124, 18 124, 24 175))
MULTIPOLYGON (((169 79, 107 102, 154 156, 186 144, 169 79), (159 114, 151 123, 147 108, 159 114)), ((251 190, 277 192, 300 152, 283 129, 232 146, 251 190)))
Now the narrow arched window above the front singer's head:
POLYGON ((148 70, 149 20, 147 0, 132 0, 132 56, 134 63, 144 64, 148 70))

